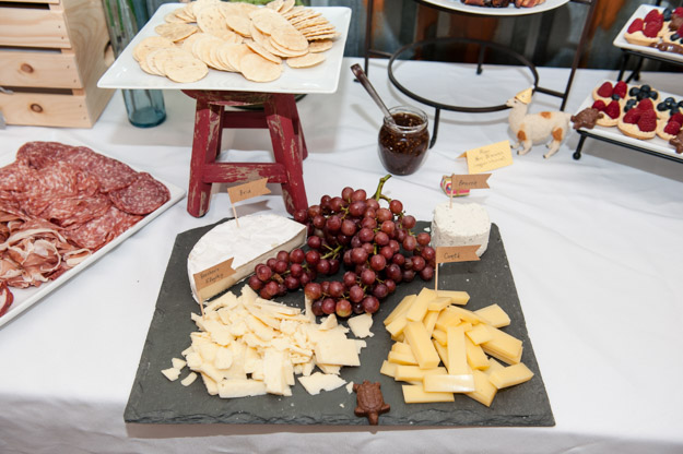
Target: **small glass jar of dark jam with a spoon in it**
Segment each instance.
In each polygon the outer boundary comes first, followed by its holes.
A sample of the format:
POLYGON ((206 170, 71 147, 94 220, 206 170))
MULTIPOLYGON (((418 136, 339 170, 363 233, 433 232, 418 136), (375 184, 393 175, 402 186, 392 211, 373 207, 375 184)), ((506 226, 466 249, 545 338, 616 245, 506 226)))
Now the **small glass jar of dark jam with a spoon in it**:
POLYGON ((410 106, 389 109, 396 124, 385 118, 379 130, 379 160, 393 175, 410 175, 417 170, 429 147, 427 116, 410 106))

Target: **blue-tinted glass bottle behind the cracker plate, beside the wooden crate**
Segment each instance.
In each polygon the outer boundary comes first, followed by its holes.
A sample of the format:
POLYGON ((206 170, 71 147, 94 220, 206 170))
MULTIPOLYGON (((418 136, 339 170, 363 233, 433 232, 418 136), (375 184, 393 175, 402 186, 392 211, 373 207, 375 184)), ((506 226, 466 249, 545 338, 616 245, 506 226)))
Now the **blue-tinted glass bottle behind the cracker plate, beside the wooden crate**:
MULTIPOLYGON (((140 28, 150 20, 144 0, 102 0, 109 39, 119 56, 140 28)), ((138 128, 152 128, 166 119, 160 89, 122 89, 128 120, 138 128)))

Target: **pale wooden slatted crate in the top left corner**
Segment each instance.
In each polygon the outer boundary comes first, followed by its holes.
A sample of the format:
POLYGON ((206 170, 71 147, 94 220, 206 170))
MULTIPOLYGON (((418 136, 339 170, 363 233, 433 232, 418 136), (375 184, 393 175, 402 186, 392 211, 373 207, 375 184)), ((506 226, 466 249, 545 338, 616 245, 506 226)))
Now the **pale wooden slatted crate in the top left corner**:
POLYGON ((0 111, 9 124, 90 128, 114 91, 102 0, 0 3, 0 111))

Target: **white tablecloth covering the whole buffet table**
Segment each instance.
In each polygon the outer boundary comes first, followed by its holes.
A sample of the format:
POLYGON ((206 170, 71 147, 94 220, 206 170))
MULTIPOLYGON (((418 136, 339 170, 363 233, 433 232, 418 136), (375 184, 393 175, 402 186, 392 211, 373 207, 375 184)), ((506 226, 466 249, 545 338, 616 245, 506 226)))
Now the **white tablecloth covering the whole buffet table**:
MULTIPOLYGON (((309 156, 309 203, 344 186, 376 187, 379 110, 344 62, 339 91, 298 103, 309 156)), ((401 63, 398 75, 422 94, 462 105, 502 104, 530 85, 527 72, 401 63), (410 82, 408 82, 410 81, 410 82)), ((541 69, 541 85, 564 88, 568 71, 541 69)), ((416 104, 390 86, 386 61, 370 80, 389 105, 416 104)), ((579 71, 568 103, 576 109, 614 72, 579 71)), ((645 74, 675 92, 680 74, 645 74)), ((166 92, 167 120, 131 127, 115 94, 93 129, 8 127, 0 157, 27 141, 60 141, 105 152, 184 189, 189 176, 193 103, 166 92)), ((531 111, 556 109, 537 95, 531 111)), ((426 109, 431 119, 434 111, 426 109)), ((507 112, 444 112, 436 146, 422 168, 386 189, 408 212, 431 219, 445 201, 441 175, 467 172, 457 156, 509 138, 507 112)), ((683 452, 683 165, 589 140, 543 159, 538 146, 495 170, 471 201, 488 210, 510 267, 556 420, 553 428, 367 428, 291 426, 127 426, 131 384, 174 238, 231 215, 225 192, 203 218, 186 200, 79 276, 0 328, 0 452, 683 452)), ((266 160, 266 131, 226 131, 227 157, 266 160), (256 150, 244 153, 236 150, 256 150)), ((240 215, 285 214, 278 188, 238 207, 240 215)))

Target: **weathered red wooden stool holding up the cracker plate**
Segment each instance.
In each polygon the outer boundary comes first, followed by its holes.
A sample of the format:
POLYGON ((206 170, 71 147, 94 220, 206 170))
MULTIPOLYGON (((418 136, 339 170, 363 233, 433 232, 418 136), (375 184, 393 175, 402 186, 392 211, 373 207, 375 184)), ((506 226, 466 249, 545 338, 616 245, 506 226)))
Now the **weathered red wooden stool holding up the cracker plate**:
POLYGON ((290 213, 308 207, 303 159, 308 156, 294 95, 184 89, 197 99, 187 211, 196 217, 209 211, 212 183, 247 182, 268 178, 282 184, 290 213), (262 111, 226 111, 228 106, 262 104, 262 111), (216 163, 224 128, 268 128, 274 163, 216 163))

